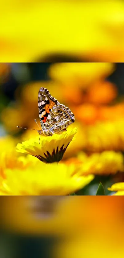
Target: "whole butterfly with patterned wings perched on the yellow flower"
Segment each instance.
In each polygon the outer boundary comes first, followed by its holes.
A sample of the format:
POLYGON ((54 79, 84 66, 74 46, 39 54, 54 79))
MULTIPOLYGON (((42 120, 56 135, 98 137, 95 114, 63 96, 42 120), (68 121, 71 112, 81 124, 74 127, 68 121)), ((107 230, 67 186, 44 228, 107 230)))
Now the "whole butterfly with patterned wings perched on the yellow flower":
POLYGON ((42 127, 41 130, 38 130, 39 135, 62 134, 75 121, 74 114, 70 109, 59 103, 43 87, 40 88, 38 93, 38 108, 42 127))

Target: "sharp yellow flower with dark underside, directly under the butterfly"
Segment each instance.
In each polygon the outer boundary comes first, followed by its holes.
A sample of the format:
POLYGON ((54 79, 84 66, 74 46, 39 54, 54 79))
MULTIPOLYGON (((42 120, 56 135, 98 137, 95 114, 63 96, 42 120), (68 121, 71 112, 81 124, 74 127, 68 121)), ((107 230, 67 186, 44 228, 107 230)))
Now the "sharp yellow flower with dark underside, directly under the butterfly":
POLYGON ((18 143, 17 151, 33 155, 45 163, 59 162, 69 143, 76 134, 77 128, 69 129, 62 135, 54 134, 53 136, 39 136, 35 139, 18 143))

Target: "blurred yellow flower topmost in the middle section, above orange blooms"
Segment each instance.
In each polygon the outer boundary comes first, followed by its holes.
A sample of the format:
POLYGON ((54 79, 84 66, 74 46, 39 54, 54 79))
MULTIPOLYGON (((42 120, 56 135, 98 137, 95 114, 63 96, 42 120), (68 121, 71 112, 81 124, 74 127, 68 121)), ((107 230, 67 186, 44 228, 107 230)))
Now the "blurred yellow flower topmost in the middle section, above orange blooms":
POLYGON ((71 85, 86 88, 95 80, 110 75, 113 70, 112 63, 54 63, 49 68, 49 75, 64 83, 65 87, 71 85))

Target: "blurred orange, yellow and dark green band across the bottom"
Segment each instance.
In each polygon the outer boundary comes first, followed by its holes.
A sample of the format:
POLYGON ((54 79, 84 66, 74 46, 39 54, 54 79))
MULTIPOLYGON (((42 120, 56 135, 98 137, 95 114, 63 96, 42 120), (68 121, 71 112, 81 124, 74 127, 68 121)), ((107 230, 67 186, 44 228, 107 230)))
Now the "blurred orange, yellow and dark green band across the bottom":
POLYGON ((1 196, 0 257, 124 257, 123 196, 1 196))

